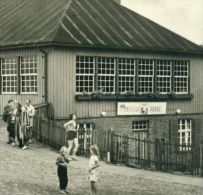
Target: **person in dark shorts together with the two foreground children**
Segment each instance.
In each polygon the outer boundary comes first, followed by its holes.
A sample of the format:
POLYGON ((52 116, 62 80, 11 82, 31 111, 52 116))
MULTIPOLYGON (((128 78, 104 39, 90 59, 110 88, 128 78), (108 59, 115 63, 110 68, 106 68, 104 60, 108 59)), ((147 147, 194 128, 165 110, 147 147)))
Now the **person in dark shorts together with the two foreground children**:
MULTIPOLYGON (((65 128, 65 146, 61 147, 60 155, 56 159, 56 165, 58 166, 57 173, 59 177, 60 193, 68 193, 68 171, 67 165, 72 160, 76 159, 76 153, 78 150, 77 139, 77 125, 76 115, 70 116, 70 121, 64 124, 65 128)), ((88 166, 88 179, 91 184, 92 194, 97 193, 96 182, 98 181, 98 167, 99 167, 99 149, 97 145, 90 147, 90 161, 88 166)))

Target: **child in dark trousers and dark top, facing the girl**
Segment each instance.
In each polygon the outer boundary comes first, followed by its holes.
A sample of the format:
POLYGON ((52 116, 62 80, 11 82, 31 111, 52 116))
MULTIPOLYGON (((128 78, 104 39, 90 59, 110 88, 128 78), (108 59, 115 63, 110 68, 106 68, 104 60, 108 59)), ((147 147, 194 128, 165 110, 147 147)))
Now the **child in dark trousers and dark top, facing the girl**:
POLYGON ((67 165, 69 160, 66 157, 67 148, 65 146, 61 147, 60 149, 60 156, 56 159, 56 165, 58 166, 57 173, 59 177, 59 184, 60 184, 60 193, 65 194, 68 193, 66 190, 68 185, 68 172, 67 172, 67 165))

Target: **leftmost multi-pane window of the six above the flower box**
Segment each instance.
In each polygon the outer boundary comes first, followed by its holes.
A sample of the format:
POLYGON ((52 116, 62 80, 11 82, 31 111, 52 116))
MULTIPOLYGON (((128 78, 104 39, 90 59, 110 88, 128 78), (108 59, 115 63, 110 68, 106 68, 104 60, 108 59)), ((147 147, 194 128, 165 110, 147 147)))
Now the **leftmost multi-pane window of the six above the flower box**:
POLYGON ((76 92, 94 91, 94 58, 78 56, 76 58, 76 92))

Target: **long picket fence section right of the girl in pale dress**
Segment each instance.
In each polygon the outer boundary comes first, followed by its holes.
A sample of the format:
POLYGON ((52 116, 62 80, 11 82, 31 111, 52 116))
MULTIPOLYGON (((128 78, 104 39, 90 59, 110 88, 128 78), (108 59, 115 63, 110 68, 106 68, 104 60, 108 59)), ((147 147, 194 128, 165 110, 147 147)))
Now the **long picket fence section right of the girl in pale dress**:
MULTIPOLYGON (((157 169, 167 172, 203 174, 203 146, 171 144, 156 139, 136 139, 115 132, 106 131, 100 135, 97 144, 102 159, 112 163, 125 163, 130 166, 157 169)), ((202 175, 203 176, 203 175, 202 175)))

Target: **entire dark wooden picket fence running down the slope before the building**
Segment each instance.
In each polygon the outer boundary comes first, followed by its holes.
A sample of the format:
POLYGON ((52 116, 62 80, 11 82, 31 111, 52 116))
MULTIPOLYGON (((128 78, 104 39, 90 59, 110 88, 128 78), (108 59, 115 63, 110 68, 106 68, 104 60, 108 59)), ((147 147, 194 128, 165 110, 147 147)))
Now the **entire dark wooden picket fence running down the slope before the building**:
MULTIPOLYGON (((65 144, 63 126, 51 120, 35 118, 35 135, 39 141, 57 149, 65 144)), ((79 124, 78 140, 78 154, 82 156, 88 156, 90 145, 96 143, 101 159, 107 162, 203 176, 203 145, 177 145, 159 139, 137 139, 113 131, 96 131, 93 123, 79 124)))

